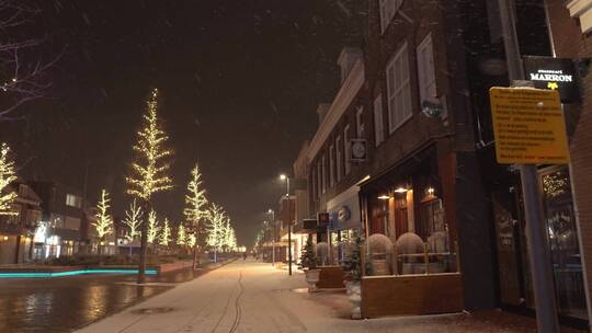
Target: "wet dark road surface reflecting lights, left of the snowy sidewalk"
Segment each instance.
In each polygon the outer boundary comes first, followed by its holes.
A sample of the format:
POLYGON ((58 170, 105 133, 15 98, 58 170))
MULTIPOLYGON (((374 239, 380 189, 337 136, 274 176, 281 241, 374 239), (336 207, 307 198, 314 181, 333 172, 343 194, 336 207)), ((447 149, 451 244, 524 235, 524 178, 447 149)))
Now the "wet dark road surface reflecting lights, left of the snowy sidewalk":
POLYGON ((203 274, 191 269, 135 275, 0 279, 0 332, 71 332, 203 274))

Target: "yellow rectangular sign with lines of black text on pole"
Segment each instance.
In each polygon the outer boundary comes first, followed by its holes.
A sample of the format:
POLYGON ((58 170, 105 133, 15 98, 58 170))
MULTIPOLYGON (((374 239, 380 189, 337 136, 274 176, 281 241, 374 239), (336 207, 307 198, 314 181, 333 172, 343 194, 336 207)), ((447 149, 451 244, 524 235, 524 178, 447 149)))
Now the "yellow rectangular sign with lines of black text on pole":
POLYGON ((491 88, 489 96, 498 163, 569 163, 559 92, 491 88))

